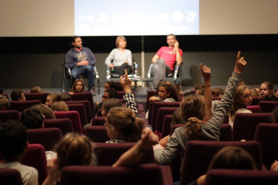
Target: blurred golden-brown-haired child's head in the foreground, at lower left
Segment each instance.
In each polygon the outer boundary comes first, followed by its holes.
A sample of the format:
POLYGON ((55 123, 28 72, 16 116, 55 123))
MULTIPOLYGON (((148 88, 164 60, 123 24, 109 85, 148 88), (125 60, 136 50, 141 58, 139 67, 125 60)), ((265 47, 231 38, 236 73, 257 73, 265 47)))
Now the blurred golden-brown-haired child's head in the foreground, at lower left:
POLYGON ((71 165, 96 163, 91 141, 86 136, 67 134, 56 148, 58 169, 71 165))

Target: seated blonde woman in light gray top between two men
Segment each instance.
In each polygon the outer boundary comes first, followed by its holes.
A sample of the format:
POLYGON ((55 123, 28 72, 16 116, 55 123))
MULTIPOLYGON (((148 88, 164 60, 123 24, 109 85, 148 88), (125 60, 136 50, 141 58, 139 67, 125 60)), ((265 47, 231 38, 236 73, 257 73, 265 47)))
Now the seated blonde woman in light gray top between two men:
POLYGON ((116 39, 116 47, 113 49, 105 60, 105 64, 112 68, 115 73, 120 76, 124 75, 124 69, 127 69, 130 74, 132 69, 132 54, 127 47, 127 40, 123 36, 118 36, 116 39), (111 61, 113 60, 113 63, 111 61))

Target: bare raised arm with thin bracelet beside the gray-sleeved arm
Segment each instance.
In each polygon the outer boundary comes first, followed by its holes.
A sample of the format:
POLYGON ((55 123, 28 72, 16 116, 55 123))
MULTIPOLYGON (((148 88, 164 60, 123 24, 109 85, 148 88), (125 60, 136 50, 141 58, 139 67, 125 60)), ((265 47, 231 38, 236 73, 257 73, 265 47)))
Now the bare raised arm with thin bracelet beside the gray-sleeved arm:
POLYGON ((200 63, 201 73, 204 77, 204 103, 205 103, 205 112, 206 115, 203 118, 203 122, 207 122, 211 118, 211 104, 212 104, 212 95, 211 95, 211 71, 210 68, 204 66, 200 63))

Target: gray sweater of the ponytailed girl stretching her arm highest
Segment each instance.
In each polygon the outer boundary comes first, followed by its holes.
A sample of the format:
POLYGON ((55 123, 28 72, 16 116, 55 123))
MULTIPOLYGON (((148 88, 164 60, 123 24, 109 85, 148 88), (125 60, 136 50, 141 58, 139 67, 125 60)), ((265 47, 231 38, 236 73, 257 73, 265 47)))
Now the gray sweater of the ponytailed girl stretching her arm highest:
MULTIPOLYGON (((239 82, 240 74, 233 72, 228 81, 224 96, 208 122, 202 124, 202 135, 197 140, 218 141, 220 128, 229 108, 233 103, 233 95, 239 82)), ((177 153, 183 158, 185 146, 191 139, 185 136, 186 127, 177 128, 164 149, 155 149, 155 161, 161 165, 170 164, 177 153)))

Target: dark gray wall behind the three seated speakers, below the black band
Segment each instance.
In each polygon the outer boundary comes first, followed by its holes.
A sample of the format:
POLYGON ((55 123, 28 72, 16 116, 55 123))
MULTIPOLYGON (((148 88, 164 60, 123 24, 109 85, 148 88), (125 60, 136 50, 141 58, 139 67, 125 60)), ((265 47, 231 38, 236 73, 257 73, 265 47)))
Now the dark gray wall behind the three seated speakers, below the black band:
MULTIPOLYGON (((145 75, 150 60, 155 53, 145 53, 145 75)), ((199 63, 202 62, 212 70, 212 84, 225 85, 233 71, 236 52, 184 52, 182 79, 186 85, 200 82, 199 63)), ((106 66, 104 64, 108 53, 95 53, 96 67, 100 73, 101 86, 106 81, 106 66)), ((276 80, 276 51, 242 52, 248 62, 242 79, 246 84, 260 84, 276 80)), ((133 53, 138 62, 141 75, 141 53, 133 53)), ((1 83, 3 88, 60 88, 62 86, 62 68, 65 54, 1 54, 1 83)))

